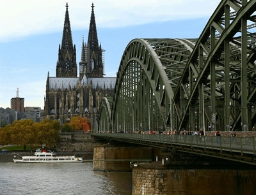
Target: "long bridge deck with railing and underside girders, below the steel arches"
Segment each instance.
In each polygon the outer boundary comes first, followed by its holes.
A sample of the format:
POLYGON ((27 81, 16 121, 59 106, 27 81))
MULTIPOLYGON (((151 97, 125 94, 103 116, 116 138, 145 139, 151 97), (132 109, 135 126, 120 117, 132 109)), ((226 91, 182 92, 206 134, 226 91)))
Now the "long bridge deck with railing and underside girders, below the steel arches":
POLYGON ((92 135, 105 140, 159 147, 168 152, 168 157, 179 152, 180 155, 195 154, 256 165, 256 138, 253 137, 138 133, 92 133, 92 135))

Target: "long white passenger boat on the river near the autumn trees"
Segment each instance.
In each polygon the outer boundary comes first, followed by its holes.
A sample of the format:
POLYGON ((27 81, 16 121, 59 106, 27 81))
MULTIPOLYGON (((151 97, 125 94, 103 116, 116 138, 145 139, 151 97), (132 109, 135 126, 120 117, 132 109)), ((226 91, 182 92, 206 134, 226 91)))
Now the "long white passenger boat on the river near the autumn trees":
POLYGON ((83 158, 75 155, 56 156, 51 151, 36 149, 33 156, 22 156, 18 159, 16 155, 13 157, 14 163, 83 163, 83 158))

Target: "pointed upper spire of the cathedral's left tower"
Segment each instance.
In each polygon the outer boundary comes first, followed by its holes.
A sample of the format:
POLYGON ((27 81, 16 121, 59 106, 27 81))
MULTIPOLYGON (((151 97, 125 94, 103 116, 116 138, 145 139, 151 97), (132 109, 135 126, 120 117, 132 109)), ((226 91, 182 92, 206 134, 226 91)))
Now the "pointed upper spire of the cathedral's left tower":
POLYGON ((72 41, 72 33, 71 33, 70 20, 69 20, 69 14, 68 14, 68 3, 67 3, 61 49, 72 49, 72 48, 73 48, 73 41, 72 41))

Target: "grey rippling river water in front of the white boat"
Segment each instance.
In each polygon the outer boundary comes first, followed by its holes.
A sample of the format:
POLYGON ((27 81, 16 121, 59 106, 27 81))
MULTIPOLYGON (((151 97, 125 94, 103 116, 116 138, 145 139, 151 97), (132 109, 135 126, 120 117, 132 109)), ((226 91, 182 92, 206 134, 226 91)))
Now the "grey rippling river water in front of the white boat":
POLYGON ((132 173, 93 171, 93 163, 0 163, 0 194, 131 195, 132 173))

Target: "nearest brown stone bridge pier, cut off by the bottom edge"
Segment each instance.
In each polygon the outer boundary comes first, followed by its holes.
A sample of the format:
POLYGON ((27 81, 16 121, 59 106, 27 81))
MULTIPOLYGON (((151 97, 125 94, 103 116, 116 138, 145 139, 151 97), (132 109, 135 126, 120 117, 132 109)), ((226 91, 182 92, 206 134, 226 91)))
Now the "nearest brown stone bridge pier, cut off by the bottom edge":
POLYGON ((254 194, 256 170, 186 168, 162 161, 134 164, 132 195, 254 194))

